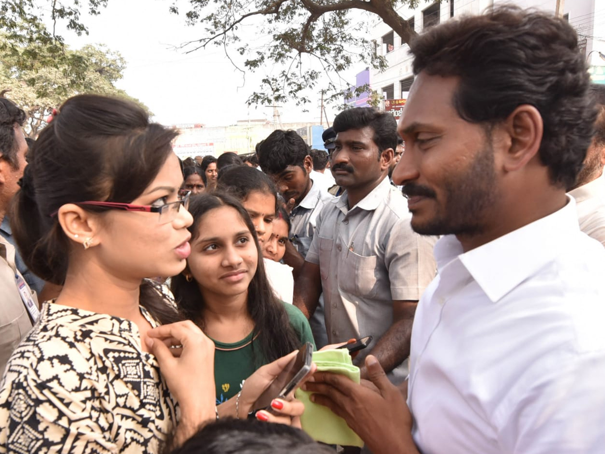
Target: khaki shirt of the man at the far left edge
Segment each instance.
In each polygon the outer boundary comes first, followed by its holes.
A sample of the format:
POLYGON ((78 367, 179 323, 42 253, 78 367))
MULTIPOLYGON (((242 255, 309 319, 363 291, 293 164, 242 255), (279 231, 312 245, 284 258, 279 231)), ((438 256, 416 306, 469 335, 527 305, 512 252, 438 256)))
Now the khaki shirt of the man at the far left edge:
POLYGON ((15 248, 0 235, 0 377, 13 350, 31 329, 15 275, 21 276, 15 267, 15 248))

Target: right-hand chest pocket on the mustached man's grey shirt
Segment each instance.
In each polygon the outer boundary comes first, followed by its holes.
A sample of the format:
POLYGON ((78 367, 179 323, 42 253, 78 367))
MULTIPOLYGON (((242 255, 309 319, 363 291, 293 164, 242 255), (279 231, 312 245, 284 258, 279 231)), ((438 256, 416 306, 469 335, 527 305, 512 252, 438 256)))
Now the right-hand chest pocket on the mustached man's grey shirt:
POLYGON ((375 297, 378 289, 376 263, 378 255, 366 257, 349 251, 343 263, 344 269, 339 270, 340 288, 360 298, 375 297))

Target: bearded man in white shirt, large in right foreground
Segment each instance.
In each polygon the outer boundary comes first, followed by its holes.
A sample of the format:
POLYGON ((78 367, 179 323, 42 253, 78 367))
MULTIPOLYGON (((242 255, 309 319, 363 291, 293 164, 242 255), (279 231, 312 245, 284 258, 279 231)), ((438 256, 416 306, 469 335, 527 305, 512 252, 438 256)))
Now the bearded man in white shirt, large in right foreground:
POLYGON ((374 392, 306 388, 374 454, 586 454, 605 447, 605 251, 573 185, 596 117, 563 19, 495 8, 411 44, 398 131, 411 225, 445 235, 414 319, 407 403, 374 358, 374 392))

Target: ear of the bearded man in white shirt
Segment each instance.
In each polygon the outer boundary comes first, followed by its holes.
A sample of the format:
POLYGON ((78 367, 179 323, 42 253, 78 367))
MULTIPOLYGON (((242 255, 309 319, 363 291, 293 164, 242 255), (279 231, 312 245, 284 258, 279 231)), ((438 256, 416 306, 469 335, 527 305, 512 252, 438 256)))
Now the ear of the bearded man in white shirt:
POLYGON ((504 122, 509 136, 504 150, 503 168, 514 172, 523 168, 540 150, 544 124, 537 108, 529 104, 517 107, 504 122))

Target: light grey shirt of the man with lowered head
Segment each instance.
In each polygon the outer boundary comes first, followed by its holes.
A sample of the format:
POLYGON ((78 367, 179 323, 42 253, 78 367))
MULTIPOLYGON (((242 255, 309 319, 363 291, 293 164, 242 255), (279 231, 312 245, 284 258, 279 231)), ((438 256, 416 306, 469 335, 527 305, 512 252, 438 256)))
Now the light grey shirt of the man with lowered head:
POLYGON ((311 189, 307 192, 301 203, 296 205, 290 213, 290 235, 294 237, 292 243, 302 257, 306 257, 313 233, 315 232, 316 220, 319 212, 325 204, 334 199, 332 194, 320 188, 320 185, 313 182, 311 189))

